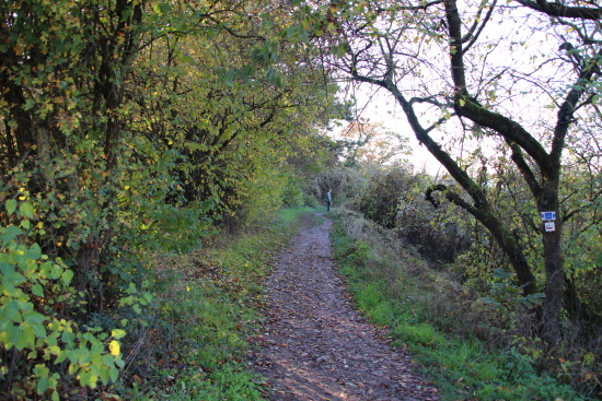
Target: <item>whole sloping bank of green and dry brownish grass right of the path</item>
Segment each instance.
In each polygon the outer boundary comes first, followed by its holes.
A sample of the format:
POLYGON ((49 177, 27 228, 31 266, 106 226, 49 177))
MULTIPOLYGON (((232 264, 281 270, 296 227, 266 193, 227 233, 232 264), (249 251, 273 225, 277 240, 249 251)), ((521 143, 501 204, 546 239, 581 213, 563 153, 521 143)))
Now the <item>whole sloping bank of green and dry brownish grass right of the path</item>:
POLYGON ((580 393, 563 382, 562 370, 541 369, 525 339, 517 337, 505 347, 482 341, 487 328, 479 300, 429 269, 391 232, 340 210, 333 240, 359 309, 391 329, 394 346, 413 352, 442 400, 593 399, 591 391, 580 393))

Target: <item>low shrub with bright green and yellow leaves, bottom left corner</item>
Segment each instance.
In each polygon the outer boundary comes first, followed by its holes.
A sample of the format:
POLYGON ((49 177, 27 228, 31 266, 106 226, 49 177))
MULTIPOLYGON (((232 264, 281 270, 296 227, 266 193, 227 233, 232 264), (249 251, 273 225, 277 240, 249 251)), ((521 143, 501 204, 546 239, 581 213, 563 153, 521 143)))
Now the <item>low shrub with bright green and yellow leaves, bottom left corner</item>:
POLYGON ((59 400, 78 386, 115 381, 124 366, 117 340, 125 331, 76 321, 83 305, 70 285, 73 272, 27 241, 42 229, 32 225, 33 205, 9 200, 5 209, 21 221, 0 227, 0 394, 59 400))

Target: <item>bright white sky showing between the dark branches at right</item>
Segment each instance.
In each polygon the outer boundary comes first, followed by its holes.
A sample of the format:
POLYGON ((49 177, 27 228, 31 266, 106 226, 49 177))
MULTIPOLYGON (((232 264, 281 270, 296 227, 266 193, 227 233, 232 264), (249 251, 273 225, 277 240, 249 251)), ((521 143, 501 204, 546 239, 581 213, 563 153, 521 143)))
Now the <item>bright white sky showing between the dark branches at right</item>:
MULTIPOLYGON (((460 7, 467 8, 467 4, 464 2, 460 7)), ((467 27, 464 26, 464 30, 467 31, 467 27)), ((549 146, 546 137, 556 120, 555 106, 558 106, 571 82, 567 79, 571 74, 570 63, 565 61, 570 56, 560 46, 563 43, 578 42, 574 31, 566 25, 551 25, 541 15, 518 3, 498 7, 478 43, 470 50, 472 64, 466 66, 468 80, 473 80, 468 81, 470 93, 493 110, 511 116, 544 145, 549 146)), ((444 56, 447 43, 425 40, 426 36, 415 36, 413 39, 412 35, 420 35, 419 31, 403 32, 401 35, 406 35, 406 42, 397 45, 401 49, 398 54, 414 55, 417 61, 422 62, 416 68, 416 73, 398 79, 400 86, 419 97, 449 97, 453 85, 449 81, 450 62, 444 56), (416 40, 417 37, 419 40, 416 40)), ((410 62, 410 59, 400 56, 395 62, 401 66, 410 62)), ((357 99, 361 118, 383 122, 389 129, 410 139, 414 151, 412 162, 416 168, 426 167, 433 175, 439 172, 439 163, 415 140, 404 113, 391 95, 368 86, 347 90, 346 95, 357 99)), ((433 123, 442 117, 438 106, 427 104, 419 111, 424 122, 433 123)), ((450 107, 448 113, 452 114, 453 109, 450 107)), ((462 123, 455 118, 449 118, 437 128, 436 135, 450 148, 460 149, 461 157, 477 149, 488 157, 491 156, 495 153, 495 140, 481 135, 477 141, 470 143, 470 127, 463 127, 462 123), (454 142, 450 142, 450 139, 454 139, 454 142), (462 143, 460 148, 458 141, 462 143)))

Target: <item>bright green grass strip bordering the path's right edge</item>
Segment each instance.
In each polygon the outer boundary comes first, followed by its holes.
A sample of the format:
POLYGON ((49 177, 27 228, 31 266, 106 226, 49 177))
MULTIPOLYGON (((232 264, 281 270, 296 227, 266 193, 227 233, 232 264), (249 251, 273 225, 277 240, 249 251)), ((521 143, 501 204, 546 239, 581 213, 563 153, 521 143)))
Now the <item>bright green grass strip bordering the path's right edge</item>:
POLYGON ((437 287, 403 267, 416 260, 400 263, 398 256, 373 252, 363 239, 348 236, 344 225, 349 221, 335 221, 335 257, 356 305, 372 322, 391 328, 393 346, 413 353, 441 400, 584 400, 570 386, 537 373, 529 356, 514 349, 491 351, 463 330, 465 322, 438 315, 429 305, 437 287), (451 334, 458 332, 466 334, 451 334))

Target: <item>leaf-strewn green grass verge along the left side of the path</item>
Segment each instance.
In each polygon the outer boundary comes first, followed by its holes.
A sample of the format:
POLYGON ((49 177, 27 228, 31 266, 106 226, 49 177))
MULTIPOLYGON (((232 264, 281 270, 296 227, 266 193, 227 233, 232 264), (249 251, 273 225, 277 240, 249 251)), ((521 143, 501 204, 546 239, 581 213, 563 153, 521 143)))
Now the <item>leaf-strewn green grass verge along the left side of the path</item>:
POLYGON ((257 333, 262 279, 297 232, 304 209, 286 209, 244 235, 154 258, 148 323, 117 392, 128 400, 263 400, 247 367, 257 333))

